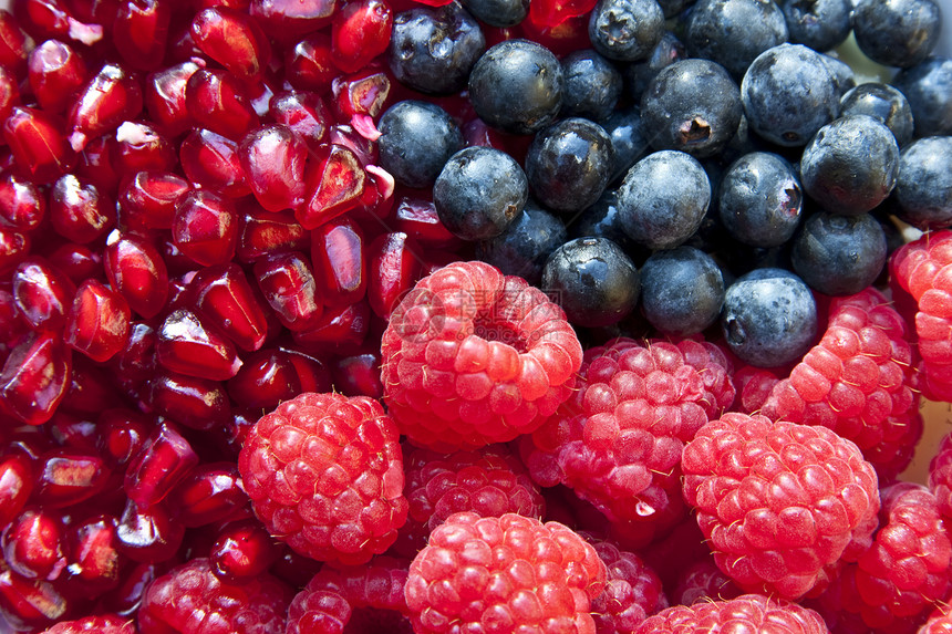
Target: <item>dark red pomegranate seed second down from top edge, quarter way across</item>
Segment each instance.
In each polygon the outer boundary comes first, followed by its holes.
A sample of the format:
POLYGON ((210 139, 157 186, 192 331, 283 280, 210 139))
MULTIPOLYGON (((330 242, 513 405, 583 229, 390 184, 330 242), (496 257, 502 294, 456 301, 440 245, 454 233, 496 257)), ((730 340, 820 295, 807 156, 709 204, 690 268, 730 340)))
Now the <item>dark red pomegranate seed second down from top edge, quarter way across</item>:
POLYGON ((259 123, 244 86, 225 71, 195 71, 185 84, 185 107, 198 127, 235 142, 259 123))

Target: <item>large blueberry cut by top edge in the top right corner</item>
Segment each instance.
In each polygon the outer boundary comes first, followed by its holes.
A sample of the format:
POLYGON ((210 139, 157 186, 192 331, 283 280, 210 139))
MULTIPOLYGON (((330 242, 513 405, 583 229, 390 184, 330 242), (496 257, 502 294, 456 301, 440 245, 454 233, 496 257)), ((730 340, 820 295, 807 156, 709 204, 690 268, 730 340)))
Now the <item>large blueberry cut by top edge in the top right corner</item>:
POLYGON ((908 69, 925 60, 939 42, 942 12, 933 0, 859 0, 852 32, 873 62, 908 69))

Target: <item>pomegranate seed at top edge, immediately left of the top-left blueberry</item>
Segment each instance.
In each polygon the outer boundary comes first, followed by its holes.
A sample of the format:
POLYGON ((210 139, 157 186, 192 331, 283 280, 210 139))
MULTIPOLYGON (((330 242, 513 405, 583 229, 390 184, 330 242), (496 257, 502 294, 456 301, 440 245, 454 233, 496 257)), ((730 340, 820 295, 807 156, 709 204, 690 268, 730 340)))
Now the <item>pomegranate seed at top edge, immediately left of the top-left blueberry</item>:
POLYGON ((331 23, 331 55, 340 70, 353 73, 383 54, 393 31, 393 11, 384 0, 348 2, 331 23))

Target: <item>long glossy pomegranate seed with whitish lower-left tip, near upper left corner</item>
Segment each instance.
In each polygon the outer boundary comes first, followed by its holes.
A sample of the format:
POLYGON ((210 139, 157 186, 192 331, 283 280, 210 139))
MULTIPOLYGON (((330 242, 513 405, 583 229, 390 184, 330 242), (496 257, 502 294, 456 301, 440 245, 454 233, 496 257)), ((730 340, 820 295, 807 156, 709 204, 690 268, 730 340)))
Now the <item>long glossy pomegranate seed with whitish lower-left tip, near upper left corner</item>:
POLYGON ((103 65, 70 107, 70 145, 80 152, 90 139, 137 117, 142 106, 138 80, 118 64, 103 65))

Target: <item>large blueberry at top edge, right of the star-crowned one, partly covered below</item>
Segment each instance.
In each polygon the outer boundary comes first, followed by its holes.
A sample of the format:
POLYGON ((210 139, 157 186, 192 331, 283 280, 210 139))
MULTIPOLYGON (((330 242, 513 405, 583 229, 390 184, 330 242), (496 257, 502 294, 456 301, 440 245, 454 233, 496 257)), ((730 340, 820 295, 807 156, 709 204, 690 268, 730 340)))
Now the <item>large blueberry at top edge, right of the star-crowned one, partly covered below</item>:
POLYGON ((684 43, 692 58, 717 62, 739 79, 754 59, 787 41, 784 12, 764 0, 699 0, 684 43))

